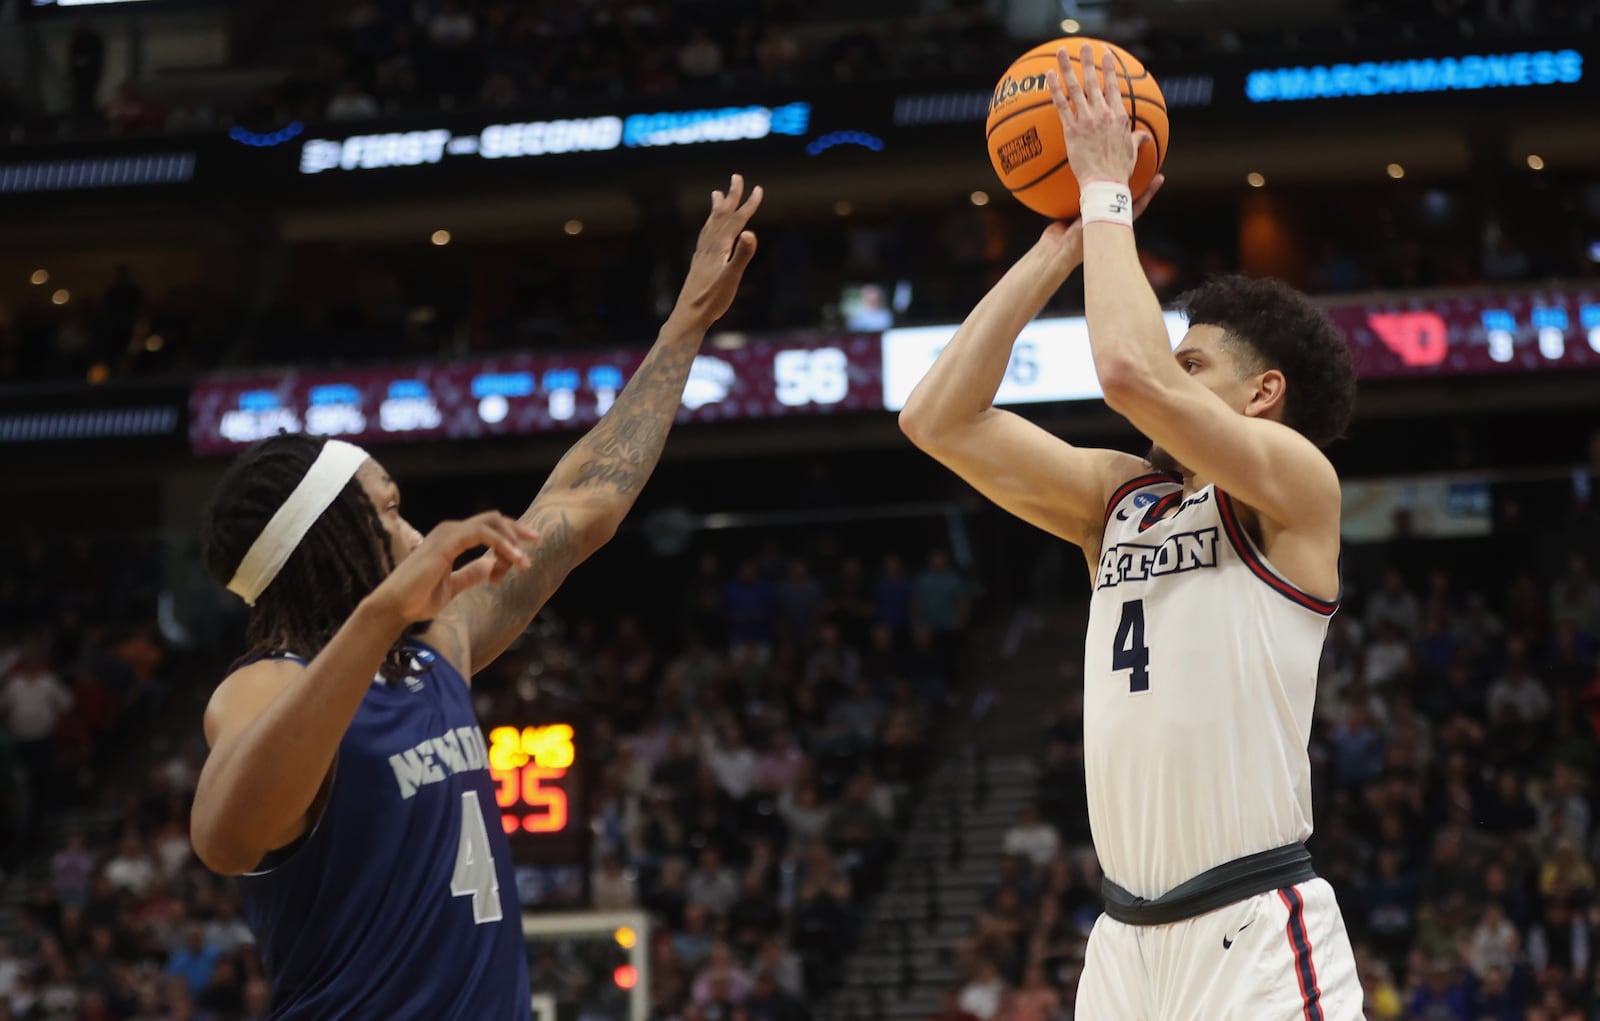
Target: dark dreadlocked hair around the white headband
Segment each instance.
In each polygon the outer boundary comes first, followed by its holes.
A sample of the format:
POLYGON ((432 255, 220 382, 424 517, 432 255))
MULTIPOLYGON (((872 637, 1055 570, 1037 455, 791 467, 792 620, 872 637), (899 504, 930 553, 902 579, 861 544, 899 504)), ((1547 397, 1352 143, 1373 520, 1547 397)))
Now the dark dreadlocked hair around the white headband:
MULTIPOLYGON (((310 470, 325 440, 283 434, 238 456, 222 475, 202 525, 206 571, 227 584, 267 522, 310 470)), ((310 659, 394 570, 389 533, 355 478, 301 539, 250 611, 238 659, 293 653, 310 659)), ((406 629, 384 658, 384 677, 406 672, 406 629)), ((235 666, 238 666, 235 663, 235 666)))

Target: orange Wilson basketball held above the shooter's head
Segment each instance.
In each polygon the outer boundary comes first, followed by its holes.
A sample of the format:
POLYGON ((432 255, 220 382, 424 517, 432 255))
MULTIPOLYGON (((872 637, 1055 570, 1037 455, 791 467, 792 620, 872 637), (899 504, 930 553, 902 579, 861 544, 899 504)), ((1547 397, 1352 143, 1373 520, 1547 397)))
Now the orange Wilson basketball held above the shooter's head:
POLYGON ((1000 182, 1018 202, 1051 219, 1072 219, 1078 214, 1078 179, 1072 176, 1067 142, 1045 86, 1045 72, 1056 67, 1056 50, 1066 46, 1082 82, 1078 50, 1083 43, 1094 48, 1096 64, 1110 50, 1128 118, 1134 130, 1144 128, 1155 136, 1155 146, 1139 150, 1133 179, 1128 181, 1134 195, 1144 194, 1166 160, 1166 99, 1144 64, 1120 46, 1080 35, 1034 46, 1006 69, 995 86, 984 134, 989 139, 989 160, 995 165, 1000 182))

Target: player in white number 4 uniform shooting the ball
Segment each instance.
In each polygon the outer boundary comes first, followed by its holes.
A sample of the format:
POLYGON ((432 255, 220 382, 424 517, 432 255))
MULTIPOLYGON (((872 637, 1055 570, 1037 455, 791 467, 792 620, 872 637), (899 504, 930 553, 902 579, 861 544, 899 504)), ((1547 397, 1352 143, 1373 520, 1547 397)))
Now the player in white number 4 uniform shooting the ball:
MULTIPOLYGON (((978 304, 901 413, 912 442, 1083 549, 1093 595, 1083 760, 1106 914, 1080 1021, 1349 1021, 1355 959, 1312 871, 1307 739, 1339 600, 1339 478, 1355 373, 1304 296, 1224 277, 1179 304, 1174 352, 1139 266, 1112 58, 1050 88, 1082 182, 978 304), (1147 458, 1072 446, 994 406, 1022 326, 1083 264, 1106 403, 1147 458)), ((1160 187, 1157 179, 1155 187, 1160 187)), ((1152 189, 1154 190, 1154 189, 1152 189)))

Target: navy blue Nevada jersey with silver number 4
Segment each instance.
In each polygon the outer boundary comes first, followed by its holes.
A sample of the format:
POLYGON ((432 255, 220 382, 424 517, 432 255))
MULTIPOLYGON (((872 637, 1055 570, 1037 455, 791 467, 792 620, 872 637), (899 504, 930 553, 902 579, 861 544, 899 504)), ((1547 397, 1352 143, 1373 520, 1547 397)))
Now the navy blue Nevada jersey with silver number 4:
POLYGON ((414 675, 362 699, 310 832, 240 877, 274 1021, 531 1018, 510 843, 470 691, 443 656, 411 653, 414 675))

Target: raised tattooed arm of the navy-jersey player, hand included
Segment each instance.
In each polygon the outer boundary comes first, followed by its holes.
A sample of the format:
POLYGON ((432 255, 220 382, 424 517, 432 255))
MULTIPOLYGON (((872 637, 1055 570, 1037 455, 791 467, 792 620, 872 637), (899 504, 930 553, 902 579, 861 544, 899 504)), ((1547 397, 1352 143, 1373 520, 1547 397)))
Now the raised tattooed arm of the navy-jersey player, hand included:
POLYGON ((755 254, 746 224, 762 203, 744 200, 738 174, 728 192, 712 192, 683 291, 645 362, 605 418, 555 466, 522 522, 538 533, 530 565, 499 584, 469 592, 435 621, 429 637, 461 667, 483 669, 533 621, 566 575, 616 533, 661 459, 683 400, 690 366, 714 322, 733 302, 755 254), (741 205, 742 202, 742 205, 741 205))

